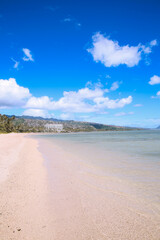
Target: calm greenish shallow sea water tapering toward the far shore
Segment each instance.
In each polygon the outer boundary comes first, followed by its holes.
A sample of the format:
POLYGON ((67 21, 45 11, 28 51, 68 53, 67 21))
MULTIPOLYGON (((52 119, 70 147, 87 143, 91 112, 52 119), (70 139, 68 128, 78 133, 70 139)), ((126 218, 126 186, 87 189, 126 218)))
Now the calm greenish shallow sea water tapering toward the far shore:
POLYGON ((120 182, 120 191, 160 214, 160 131, 108 131, 41 135, 83 164, 120 182), (125 188, 123 188, 125 186, 125 188), (127 187, 127 188, 126 188, 127 187), (126 190, 127 189, 127 190, 126 190))

